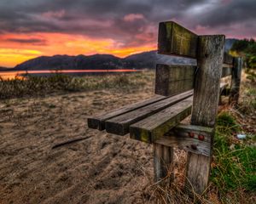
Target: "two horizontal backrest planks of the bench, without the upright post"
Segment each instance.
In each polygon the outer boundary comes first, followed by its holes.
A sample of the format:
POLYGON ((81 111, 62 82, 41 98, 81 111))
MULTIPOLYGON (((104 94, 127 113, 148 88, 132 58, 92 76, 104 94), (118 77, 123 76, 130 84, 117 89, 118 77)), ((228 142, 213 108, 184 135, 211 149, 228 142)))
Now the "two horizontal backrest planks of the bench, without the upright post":
MULTIPOLYGON (((162 22, 159 27, 158 54, 197 59, 198 65, 201 58, 199 56, 200 38, 175 22, 162 22)), ((223 47, 224 44, 219 46, 223 47)), ((234 58, 224 53, 219 61, 222 59, 224 64, 221 77, 230 76, 234 58)), ((195 65, 156 65, 155 94, 170 96, 193 89, 196 71, 198 66, 195 65)), ((218 76, 215 77, 218 78, 218 76)))

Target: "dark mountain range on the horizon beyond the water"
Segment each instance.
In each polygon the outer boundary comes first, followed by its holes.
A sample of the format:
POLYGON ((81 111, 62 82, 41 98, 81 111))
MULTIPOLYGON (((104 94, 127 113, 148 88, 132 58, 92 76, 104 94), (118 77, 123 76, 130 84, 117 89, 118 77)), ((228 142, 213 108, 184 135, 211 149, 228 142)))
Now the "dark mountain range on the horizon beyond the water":
MULTIPOLYGON (((225 49, 230 49, 236 39, 227 39, 225 49)), ((27 60, 15 66, 15 70, 114 70, 114 69, 154 69, 156 64, 196 65, 195 59, 157 54, 149 51, 132 54, 125 58, 111 54, 94 54, 90 56, 55 55, 27 60)))

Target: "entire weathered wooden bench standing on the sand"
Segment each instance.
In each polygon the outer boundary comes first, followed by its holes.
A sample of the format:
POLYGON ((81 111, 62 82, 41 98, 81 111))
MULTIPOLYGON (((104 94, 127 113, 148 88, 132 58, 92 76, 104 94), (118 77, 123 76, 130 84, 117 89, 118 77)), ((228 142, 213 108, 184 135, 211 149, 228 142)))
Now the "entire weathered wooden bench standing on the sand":
POLYGON ((156 96, 91 116, 88 127, 153 144, 156 181, 166 177, 173 147, 187 150, 186 186, 201 194, 210 172, 218 99, 227 87, 220 79, 232 75, 230 101, 237 103, 241 59, 224 54, 223 35, 197 36, 175 22, 160 23, 158 53, 193 58, 197 65, 156 65, 156 96), (180 124, 189 115, 191 124, 180 124))

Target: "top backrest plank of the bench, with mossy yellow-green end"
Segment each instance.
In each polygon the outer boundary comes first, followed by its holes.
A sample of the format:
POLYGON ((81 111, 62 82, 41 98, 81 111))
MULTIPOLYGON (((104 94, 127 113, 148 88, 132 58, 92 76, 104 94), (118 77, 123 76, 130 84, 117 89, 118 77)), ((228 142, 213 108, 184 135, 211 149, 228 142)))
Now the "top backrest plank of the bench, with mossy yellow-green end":
POLYGON ((158 35, 158 53, 196 57, 198 37, 175 22, 161 22, 158 35))

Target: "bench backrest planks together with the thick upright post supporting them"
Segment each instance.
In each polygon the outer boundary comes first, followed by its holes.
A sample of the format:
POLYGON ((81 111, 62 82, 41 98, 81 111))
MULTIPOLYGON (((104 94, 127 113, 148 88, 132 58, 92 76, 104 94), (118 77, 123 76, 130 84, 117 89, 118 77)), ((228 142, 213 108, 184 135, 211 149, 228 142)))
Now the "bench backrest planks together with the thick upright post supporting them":
MULTIPOLYGON (((224 40, 224 35, 198 36, 172 21, 160 23, 158 53, 196 59, 197 65, 157 65, 155 94, 169 96, 194 88, 191 125, 215 127, 221 77, 232 75, 231 93, 232 87, 236 95, 239 92, 234 78, 241 75, 241 60, 224 54, 224 40), (239 63, 237 72, 233 66, 239 63)), ((211 140, 213 135, 214 131, 211 140)), ((202 193, 207 188, 210 163, 211 156, 188 152, 186 186, 202 193)))

